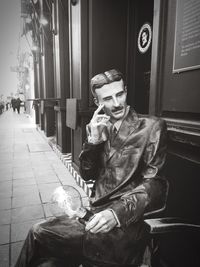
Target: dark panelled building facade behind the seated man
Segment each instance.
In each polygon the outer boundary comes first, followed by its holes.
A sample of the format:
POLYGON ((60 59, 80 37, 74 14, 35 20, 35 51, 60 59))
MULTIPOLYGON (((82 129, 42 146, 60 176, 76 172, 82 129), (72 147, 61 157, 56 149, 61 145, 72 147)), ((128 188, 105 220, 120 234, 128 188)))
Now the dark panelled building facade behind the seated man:
MULTIPOLYGON (((54 137, 61 153, 71 153, 78 170, 85 126, 95 110, 90 79, 121 70, 128 104, 168 125, 165 215, 200 223, 199 1, 22 0, 22 10, 37 45, 34 103, 40 129, 54 137)), ((197 243, 191 235, 188 242, 182 235, 162 236, 160 266, 193 266, 191 260, 199 260, 197 236, 197 243), (174 252, 173 242, 183 252, 174 252)))

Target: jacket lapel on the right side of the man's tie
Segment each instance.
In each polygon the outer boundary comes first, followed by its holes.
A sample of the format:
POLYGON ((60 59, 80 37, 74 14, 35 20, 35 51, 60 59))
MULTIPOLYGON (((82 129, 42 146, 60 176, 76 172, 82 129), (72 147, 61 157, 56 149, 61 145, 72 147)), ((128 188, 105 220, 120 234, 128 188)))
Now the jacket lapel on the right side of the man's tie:
POLYGON ((128 115, 124 118, 120 129, 110 146, 110 153, 107 157, 107 161, 110 160, 113 155, 125 145, 129 135, 131 135, 139 126, 138 116, 134 110, 129 111, 128 115))

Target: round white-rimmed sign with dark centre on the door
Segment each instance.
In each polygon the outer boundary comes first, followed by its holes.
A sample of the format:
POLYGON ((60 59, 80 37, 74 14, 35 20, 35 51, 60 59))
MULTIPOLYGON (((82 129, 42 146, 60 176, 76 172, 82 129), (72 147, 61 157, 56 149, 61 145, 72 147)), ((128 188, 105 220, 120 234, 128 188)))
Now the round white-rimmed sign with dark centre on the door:
POLYGON ((148 23, 142 25, 138 34, 138 49, 141 53, 145 53, 151 44, 151 26, 148 23))

